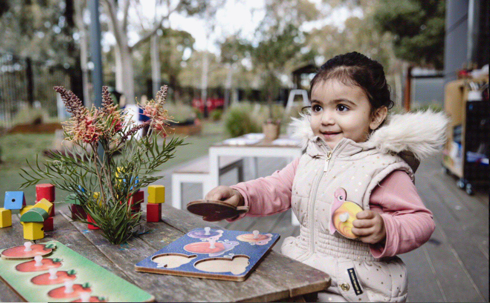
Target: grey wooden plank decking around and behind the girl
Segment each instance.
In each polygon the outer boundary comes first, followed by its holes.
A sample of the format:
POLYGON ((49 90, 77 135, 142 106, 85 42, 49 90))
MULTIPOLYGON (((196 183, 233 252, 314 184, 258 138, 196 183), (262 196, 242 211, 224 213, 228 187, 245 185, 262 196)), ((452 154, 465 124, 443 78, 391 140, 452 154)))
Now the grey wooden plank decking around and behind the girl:
MULTIPOLYGON (((259 176, 269 175, 286 164, 280 158, 259 158, 259 176)), ((172 170, 163 173, 165 178, 158 184, 166 187, 166 203, 170 204, 172 170)), ((233 173, 223 175, 221 185, 235 184, 233 173)), ((453 176, 444 174, 439 156, 420 164, 416 186, 422 201, 434 213, 436 230, 420 248, 399 255, 408 268, 408 302, 489 302, 488 183, 468 196, 456 186, 453 176)), ((201 197, 200 184, 185 184, 183 209, 201 197)), ((291 210, 219 224, 229 230, 279 233, 281 240, 273 248, 277 252, 284 238, 299 234, 299 227, 291 225, 291 210)))

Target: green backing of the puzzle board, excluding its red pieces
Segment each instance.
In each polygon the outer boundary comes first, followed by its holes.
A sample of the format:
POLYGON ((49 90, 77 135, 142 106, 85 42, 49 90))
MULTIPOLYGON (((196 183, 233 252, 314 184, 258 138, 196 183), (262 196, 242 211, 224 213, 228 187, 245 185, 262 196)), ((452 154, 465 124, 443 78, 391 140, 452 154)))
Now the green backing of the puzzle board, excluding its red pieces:
MULTIPOLYGON (((76 278, 73 280, 73 289, 80 289, 80 284, 88 283, 90 287, 90 302, 153 302, 154 297, 139 287, 129 283, 128 281, 110 273, 89 259, 75 253, 70 248, 66 247, 58 241, 49 241, 41 244, 54 243, 56 249, 49 255, 43 257, 42 263, 46 259, 59 258, 62 259, 56 266, 59 271, 74 270, 76 278), (97 301, 104 298, 105 300, 97 301)), ((37 244, 36 244, 37 245, 37 244)), ((5 251, 5 250, 2 250, 5 251)), ((34 262, 30 259, 5 259, 4 256, 0 259, 0 277, 1 279, 19 294, 26 302, 78 302, 79 296, 71 298, 53 298, 53 289, 65 289, 64 283, 50 285, 34 284, 34 277, 45 274, 46 278, 49 274, 48 270, 44 271, 28 271, 21 272, 17 268, 19 264, 26 262, 34 262), (50 294, 50 295, 49 295, 50 294)), ((32 265, 32 264, 31 264, 32 265)), ((37 279, 40 279, 38 277, 37 279)), ((63 280, 63 279, 61 279, 63 280)), ((58 293, 63 293, 59 291, 58 293)))

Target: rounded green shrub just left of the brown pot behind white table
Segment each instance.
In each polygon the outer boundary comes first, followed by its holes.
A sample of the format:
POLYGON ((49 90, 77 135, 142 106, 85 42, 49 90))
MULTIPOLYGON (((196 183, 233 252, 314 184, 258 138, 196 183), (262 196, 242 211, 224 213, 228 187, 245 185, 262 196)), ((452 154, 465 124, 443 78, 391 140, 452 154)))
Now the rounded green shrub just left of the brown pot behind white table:
POLYGON ((252 104, 248 102, 232 105, 224 113, 223 119, 225 129, 231 137, 261 132, 258 117, 254 114, 252 104))

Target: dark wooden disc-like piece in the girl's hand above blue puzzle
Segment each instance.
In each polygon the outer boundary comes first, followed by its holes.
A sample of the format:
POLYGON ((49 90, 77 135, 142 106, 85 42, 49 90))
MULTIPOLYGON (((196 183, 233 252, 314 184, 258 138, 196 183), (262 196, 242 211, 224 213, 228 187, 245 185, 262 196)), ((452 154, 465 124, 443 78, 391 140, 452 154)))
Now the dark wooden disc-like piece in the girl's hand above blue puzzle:
POLYGON ((248 206, 234 206, 217 200, 196 200, 187 204, 187 210, 202 216, 204 221, 216 222, 235 218, 248 211, 248 206))

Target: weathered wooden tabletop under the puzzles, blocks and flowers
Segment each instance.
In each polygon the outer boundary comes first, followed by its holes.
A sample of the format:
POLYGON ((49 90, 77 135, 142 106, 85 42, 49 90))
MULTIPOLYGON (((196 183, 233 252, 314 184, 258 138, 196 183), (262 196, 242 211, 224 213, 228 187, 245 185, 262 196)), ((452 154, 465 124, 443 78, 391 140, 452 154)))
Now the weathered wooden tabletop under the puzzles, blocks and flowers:
MULTIPOLYGON (((292 302, 298 296, 315 295, 330 285, 330 277, 317 269, 270 251, 254 272, 243 282, 209 280, 141 273, 134 264, 195 228, 210 226, 189 212, 162 205, 163 222, 143 224, 148 233, 123 245, 112 245, 98 231, 71 222, 68 207, 56 210, 54 231, 36 242, 57 240, 115 275, 155 297, 157 302, 292 302)), ((0 229, 0 250, 22 245, 22 225, 12 214, 12 226, 0 229)), ((1 302, 19 302, 20 298, 0 283, 1 302)))

